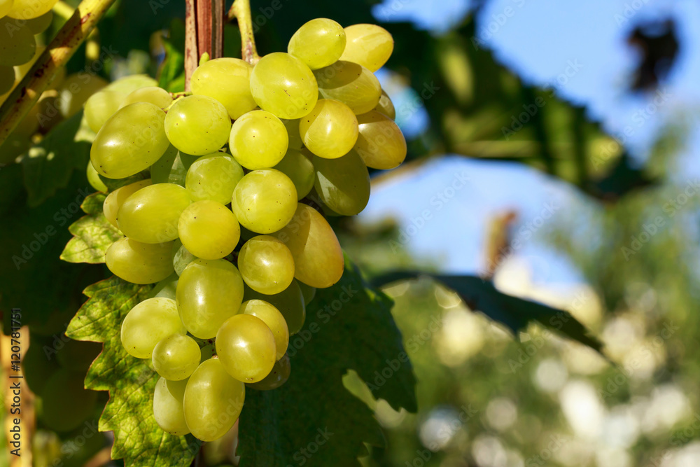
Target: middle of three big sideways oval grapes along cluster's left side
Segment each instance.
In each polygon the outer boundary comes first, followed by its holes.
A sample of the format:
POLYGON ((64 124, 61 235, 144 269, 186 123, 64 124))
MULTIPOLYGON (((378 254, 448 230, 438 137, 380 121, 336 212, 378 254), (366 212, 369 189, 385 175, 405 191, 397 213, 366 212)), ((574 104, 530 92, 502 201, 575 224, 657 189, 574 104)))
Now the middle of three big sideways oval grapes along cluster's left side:
POLYGON ((117 213, 117 227, 139 242, 169 242, 178 237, 180 214, 189 205, 190 196, 185 188, 174 183, 149 185, 122 204, 117 213))

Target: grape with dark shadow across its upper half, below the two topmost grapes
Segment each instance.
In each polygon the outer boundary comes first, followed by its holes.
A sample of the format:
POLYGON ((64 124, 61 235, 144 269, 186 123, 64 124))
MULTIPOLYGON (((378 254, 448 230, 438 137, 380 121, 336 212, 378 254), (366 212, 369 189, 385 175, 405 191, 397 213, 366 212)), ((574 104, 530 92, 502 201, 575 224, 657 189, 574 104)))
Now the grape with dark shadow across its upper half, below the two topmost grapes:
POLYGON ((323 99, 340 101, 357 115, 369 112, 379 104, 379 80, 370 70, 356 63, 338 60, 328 67, 314 70, 314 76, 323 99))

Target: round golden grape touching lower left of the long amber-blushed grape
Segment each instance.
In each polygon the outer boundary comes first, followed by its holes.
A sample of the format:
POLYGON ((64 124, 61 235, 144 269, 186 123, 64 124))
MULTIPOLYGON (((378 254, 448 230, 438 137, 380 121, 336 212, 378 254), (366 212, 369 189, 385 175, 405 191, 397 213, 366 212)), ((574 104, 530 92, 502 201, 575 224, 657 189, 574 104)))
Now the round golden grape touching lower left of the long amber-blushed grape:
POLYGON ((292 283, 294 258, 289 249, 275 237, 258 235, 241 247, 238 269, 248 287, 273 295, 292 283))

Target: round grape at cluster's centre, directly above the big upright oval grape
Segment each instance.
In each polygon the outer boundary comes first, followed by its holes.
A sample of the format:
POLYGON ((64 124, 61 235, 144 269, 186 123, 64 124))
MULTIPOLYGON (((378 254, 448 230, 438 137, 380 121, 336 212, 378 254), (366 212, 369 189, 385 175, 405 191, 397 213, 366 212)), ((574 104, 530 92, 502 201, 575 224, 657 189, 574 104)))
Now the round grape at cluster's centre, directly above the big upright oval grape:
POLYGON ((183 246, 205 260, 228 255, 241 238, 236 216, 220 202, 210 200, 193 202, 182 211, 178 232, 183 246))

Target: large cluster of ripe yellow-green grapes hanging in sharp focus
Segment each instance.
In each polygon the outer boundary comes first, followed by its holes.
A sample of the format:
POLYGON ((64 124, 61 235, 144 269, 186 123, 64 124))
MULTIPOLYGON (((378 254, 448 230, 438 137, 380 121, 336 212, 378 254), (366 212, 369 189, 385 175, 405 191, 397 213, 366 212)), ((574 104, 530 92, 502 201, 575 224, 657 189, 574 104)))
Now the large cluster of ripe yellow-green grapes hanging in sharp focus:
POLYGON ((274 389, 289 377, 289 336, 316 288, 344 270, 335 232, 309 202, 358 214, 367 167, 406 155, 373 74, 392 50, 381 27, 316 19, 288 53, 255 66, 200 64, 191 95, 103 90, 86 102, 94 185, 150 172, 104 201, 125 235, 106 265, 158 283, 125 316, 121 342, 161 376, 153 413, 168 433, 216 440, 238 418, 246 384, 274 389))

